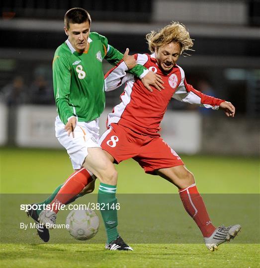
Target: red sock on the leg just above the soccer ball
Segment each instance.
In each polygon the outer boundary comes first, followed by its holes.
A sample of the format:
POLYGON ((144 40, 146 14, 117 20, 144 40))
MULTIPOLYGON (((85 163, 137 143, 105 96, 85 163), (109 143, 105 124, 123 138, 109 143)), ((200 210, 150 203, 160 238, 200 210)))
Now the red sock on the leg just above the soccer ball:
POLYGON ((52 211, 57 213, 59 205, 66 204, 77 196, 92 181, 92 177, 86 168, 75 171, 64 183, 54 200, 50 203, 52 211), (54 203, 54 205, 53 205, 54 203))

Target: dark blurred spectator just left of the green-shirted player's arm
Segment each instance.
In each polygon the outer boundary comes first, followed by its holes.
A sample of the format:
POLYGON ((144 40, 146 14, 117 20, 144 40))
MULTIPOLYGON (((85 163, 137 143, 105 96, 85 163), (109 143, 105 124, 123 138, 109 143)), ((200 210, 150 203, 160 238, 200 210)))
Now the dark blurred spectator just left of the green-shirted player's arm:
POLYGON ((53 89, 43 75, 38 75, 30 86, 30 102, 54 104, 53 89))

